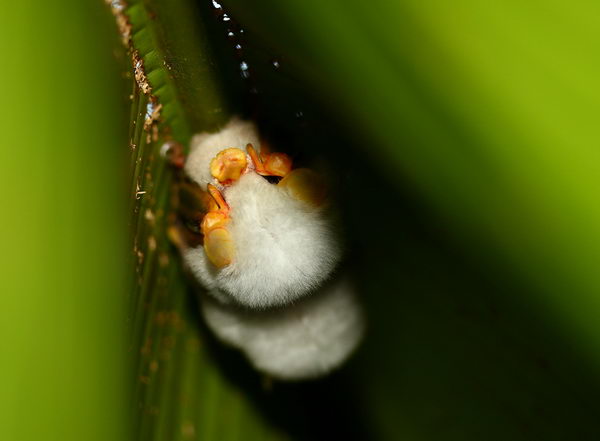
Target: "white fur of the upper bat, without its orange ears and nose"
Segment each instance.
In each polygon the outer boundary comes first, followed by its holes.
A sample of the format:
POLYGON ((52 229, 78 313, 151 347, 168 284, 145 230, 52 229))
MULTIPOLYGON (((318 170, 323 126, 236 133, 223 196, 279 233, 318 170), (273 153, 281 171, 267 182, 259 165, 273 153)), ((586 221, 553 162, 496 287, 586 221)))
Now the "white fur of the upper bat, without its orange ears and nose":
MULTIPOLYGON (((185 170, 198 184, 217 184, 212 158, 228 147, 258 146, 255 126, 233 120, 223 131, 194 137, 185 170)), ((319 287, 340 258, 338 241, 323 210, 294 199, 253 170, 222 188, 231 208, 228 225, 235 243, 233 262, 214 267, 198 247, 184 259, 205 287, 221 301, 265 308, 288 304, 319 287)))

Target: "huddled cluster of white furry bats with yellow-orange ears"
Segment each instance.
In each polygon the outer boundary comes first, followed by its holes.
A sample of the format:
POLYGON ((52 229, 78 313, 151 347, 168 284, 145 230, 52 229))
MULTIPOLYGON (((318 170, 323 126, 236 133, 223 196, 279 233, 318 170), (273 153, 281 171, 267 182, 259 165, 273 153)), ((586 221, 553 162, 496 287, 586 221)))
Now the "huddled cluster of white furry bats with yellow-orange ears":
POLYGON ((268 152, 255 125, 239 119, 196 135, 185 172, 206 189, 203 245, 183 254, 213 298, 203 301, 208 326, 277 378, 341 364, 364 320, 347 280, 324 285, 341 252, 319 176, 268 152))

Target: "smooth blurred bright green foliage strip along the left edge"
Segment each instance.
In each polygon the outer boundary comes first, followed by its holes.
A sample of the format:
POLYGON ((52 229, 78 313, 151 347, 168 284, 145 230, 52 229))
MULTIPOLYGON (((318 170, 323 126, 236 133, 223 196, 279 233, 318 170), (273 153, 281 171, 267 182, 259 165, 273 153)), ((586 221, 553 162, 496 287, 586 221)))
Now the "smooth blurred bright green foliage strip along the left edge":
POLYGON ((0 438, 127 440, 125 90, 99 2, 0 13, 0 438))

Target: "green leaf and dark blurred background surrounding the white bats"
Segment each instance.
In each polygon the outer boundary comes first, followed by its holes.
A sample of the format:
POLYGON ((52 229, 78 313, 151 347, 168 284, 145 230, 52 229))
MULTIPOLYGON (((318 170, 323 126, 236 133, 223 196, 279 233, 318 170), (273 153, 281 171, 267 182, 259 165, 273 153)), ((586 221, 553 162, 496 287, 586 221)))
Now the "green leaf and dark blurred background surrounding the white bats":
POLYGON ((155 140, 108 5, 2 7, 0 439, 598 439, 600 4, 216 5, 123 9, 155 140), (166 240, 162 143, 238 112, 338 175, 328 379, 264 388, 166 240))

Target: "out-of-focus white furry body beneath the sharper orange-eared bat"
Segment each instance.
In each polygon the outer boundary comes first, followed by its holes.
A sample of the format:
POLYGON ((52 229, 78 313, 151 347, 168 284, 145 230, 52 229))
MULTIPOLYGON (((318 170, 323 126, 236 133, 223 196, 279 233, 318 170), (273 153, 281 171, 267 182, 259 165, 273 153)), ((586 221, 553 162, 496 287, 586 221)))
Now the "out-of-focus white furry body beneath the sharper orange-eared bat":
POLYGON ((248 310, 204 297, 206 323, 256 369, 282 380, 321 376, 360 343, 365 320, 352 284, 338 278, 285 309, 248 310))

